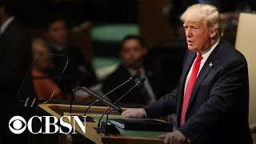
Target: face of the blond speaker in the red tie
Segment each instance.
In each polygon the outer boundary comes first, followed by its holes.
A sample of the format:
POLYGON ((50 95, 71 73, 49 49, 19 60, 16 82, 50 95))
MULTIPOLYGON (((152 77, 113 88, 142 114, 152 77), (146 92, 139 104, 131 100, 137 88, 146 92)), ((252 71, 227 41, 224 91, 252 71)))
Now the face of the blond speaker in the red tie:
POLYGON ((201 20, 198 22, 184 22, 186 43, 189 50, 202 53, 211 46, 214 34, 201 20))

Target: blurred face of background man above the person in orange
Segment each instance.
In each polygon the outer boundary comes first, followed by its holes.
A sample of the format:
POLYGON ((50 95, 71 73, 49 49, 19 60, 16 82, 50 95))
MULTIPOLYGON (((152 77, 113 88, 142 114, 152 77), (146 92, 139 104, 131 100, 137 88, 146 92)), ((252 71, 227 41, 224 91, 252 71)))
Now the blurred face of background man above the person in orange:
POLYGON ((58 45, 66 45, 68 29, 65 22, 55 21, 52 22, 47 32, 48 38, 58 45))

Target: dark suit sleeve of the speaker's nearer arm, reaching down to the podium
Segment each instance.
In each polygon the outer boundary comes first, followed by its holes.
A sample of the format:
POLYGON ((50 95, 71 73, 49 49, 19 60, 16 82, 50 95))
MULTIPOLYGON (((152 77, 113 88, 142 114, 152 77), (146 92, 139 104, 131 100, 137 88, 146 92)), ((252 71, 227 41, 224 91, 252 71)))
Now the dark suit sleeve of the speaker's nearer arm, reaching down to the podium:
POLYGON ((210 98, 178 130, 190 141, 194 141, 208 126, 218 125, 218 119, 229 114, 245 98, 247 74, 246 61, 230 62, 218 75, 210 91, 210 98))

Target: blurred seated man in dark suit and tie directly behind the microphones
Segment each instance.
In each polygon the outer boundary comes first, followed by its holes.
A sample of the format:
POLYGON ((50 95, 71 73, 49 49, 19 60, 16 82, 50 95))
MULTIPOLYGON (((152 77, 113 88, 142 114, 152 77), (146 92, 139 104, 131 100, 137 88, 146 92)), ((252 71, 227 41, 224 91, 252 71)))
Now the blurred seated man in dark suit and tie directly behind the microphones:
POLYGON ((117 101, 118 98, 122 97, 131 87, 135 85, 141 78, 146 78, 146 81, 142 83, 141 86, 137 86, 134 90, 130 91, 124 98, 122 98, 120 103, 130 103, 130 104, 148 104, 150 102, 156 101, 164 90, 162 86, 163 78, 159 74, 161 70, 154 67, 150 58, 146 57, 148 49, 145 42, 136 35, 127 35, 122 40, 122 48, 120 50, 120 57, 122 63, 102 82, 103 93, 108 93, 115 87, 125 82, 130 77, 137 75, 135 81, 130 81, 122 86, 118 90, 111 93, 108 98, 113 102, 117 101))

